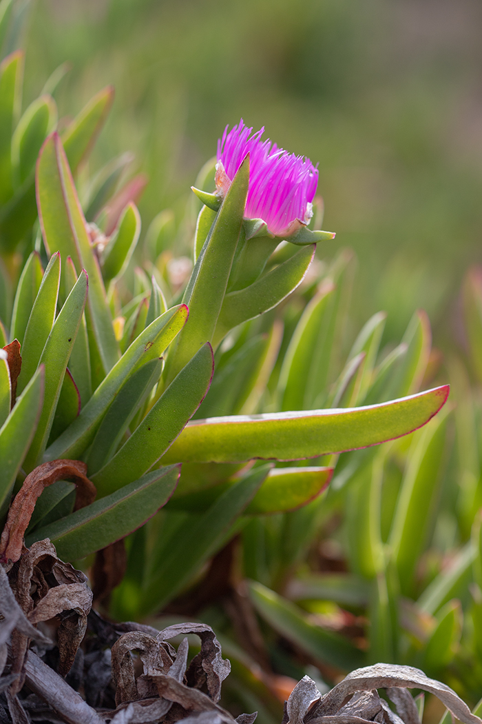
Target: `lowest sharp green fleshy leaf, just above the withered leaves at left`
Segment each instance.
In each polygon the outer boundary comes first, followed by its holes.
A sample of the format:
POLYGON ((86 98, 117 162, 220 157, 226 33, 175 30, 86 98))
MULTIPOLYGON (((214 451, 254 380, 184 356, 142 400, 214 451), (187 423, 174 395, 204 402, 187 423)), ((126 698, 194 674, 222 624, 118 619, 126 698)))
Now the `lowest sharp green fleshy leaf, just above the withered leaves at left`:
POLYGON ((160 468, 85 508, 39 528, 26 543, 51 539, 59 557, 77 560, 124 538, 142 526, 171 497, 179 466, 160 468))

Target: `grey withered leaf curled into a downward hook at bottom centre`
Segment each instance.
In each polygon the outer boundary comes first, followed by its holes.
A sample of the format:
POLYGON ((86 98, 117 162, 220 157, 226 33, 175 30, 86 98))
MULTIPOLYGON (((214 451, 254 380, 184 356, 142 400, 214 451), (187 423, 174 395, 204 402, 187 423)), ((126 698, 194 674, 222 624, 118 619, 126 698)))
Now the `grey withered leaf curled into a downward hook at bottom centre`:
POLYGON ((201 650, 189 665, 186 678, 195 689, 207 687, 207 693, 214 702, 221 696, 221 683, 231 671, 231 663, 223 659, 221 647, 214 631, 204 623, 178 623, 158 633, 158 641, 167 641, 180 634, 195 633, 201 639, 201 650))

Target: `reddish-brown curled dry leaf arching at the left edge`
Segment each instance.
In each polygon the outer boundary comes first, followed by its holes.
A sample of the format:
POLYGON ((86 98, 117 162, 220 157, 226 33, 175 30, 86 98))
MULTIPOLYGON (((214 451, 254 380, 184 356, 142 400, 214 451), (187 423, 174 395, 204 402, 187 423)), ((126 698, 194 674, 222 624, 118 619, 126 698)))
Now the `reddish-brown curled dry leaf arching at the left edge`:
POLYGON ((35 502, 43 490, 58 480, 71 479, 77 486, 75 508, 84 508, 94 502, 97 491, 87 478, 87 466, 79 460, 51 460, 27 475, 9 509, 7 523, 0 538, 0 562, 15 563, 22 554, 23 539, 35 502))

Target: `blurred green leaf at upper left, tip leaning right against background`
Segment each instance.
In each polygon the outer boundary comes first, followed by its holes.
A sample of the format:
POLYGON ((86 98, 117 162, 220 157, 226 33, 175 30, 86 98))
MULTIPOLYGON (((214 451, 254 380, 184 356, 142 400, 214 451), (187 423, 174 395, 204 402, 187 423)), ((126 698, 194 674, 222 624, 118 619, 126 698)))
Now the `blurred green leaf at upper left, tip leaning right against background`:
POLYGON ((111 110, 112 101, 113 87, 108 85, 90 99, 62 134, 62 143, 72 173, 77 171, 80 162, 92 151, 111 110))

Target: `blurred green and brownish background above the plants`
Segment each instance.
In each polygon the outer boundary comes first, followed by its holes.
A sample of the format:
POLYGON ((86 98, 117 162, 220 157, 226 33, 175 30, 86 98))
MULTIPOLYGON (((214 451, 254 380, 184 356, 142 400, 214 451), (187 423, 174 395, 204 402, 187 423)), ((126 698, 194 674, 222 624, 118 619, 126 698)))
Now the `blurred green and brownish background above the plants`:
POLYGON ((226 124, 264 125, 319 162, 337 232, 320 252, 356 251, 357 327, 384 309, 397 339, 422 307, 444 345, 482 260, 481 30, 480 0, 41 0, 24 100, 64 61, 61 114, 113 83, 91 170, 134 151, 145 229, 188 198, 226 124))

